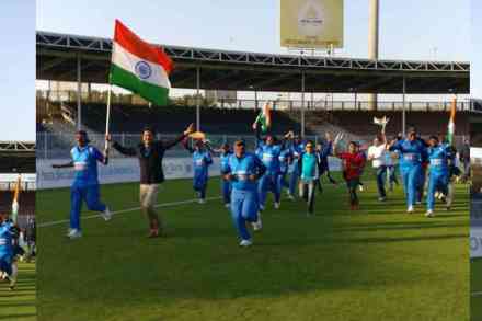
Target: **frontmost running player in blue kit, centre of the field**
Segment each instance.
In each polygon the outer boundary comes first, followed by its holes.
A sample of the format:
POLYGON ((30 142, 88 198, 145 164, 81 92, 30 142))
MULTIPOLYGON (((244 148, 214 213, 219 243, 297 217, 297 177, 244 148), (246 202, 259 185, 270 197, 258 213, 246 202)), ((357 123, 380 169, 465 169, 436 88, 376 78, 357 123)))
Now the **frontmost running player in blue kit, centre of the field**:
POLYGON ((261 229, 259 217, 257 180, 266 172, 260 158, 245 151, 244 141, 234 142, 234 153, 229 157, 225 180, 232 183, 231 217, 241 239, 241 247, 250 247, 253 241, 246 223, 261 229))

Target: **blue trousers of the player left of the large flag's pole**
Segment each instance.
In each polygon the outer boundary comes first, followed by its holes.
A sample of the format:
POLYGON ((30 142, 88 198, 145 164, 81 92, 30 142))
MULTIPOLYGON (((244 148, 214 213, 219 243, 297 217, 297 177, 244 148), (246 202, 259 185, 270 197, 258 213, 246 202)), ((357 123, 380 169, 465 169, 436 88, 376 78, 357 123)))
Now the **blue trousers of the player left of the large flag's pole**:
POLYGON ((104 211, 106 206, 100 200, 99 185, 70 187, 70 228, 80 230, 80 213, 82 203, 89 210, 104 211))

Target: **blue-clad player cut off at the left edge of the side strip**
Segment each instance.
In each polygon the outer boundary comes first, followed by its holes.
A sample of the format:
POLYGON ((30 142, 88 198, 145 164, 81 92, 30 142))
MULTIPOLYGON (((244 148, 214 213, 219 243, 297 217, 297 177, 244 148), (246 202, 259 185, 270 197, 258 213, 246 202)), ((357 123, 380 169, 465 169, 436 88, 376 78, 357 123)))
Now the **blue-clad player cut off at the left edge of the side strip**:
POLYGON ((14 262, 13 241, 19 238, 19 232, 20 229, 8 219, 8 215, 0 213, 0 274, 7 274, 12 290, 19 271, 14 262))

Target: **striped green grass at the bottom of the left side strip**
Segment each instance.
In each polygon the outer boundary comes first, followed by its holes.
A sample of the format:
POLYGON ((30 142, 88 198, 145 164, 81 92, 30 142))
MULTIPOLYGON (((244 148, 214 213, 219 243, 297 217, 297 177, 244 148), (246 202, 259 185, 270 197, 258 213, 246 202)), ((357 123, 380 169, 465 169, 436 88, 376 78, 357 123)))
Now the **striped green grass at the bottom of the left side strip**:
POLYGON ((8 282, 0 282, 0 320, 35 321, 35 263, 19 263, 19 282, 15 290, 8 282))

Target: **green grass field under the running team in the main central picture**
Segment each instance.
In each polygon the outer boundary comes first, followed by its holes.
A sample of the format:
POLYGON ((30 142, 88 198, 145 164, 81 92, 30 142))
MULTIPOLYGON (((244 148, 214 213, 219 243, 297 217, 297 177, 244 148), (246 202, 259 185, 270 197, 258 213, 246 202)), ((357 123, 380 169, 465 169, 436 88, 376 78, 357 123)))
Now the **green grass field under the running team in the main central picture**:
MULTIPOLYGON (((41 227, 38 320, 469 320, 467 186, 429 219, 404 213, 401 188, 380 204, 367 185, 358 213, 344 186, 318 196, 314 217, 300 202, 269 205, 248 249, 218 199, 160 208, 167 238, 147 239, 139 210, 84 220, 74 241, 67 225, 41 227)), ((138 206, 137 184, 102 194, 113 210, 138 206)), ((192 198, 191 181, 170 181, 159 203, 192 198)), ((68 210, 68 190, 37 193, 39 223, 68 210)))

